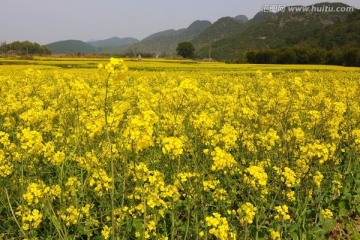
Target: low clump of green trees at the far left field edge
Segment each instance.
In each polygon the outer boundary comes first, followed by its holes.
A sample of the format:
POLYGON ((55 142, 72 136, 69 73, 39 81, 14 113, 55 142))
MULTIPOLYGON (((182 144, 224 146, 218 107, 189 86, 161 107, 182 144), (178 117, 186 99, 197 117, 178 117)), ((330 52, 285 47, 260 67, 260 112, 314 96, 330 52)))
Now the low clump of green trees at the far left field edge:
POLYGON ((41 46, 38 43, 32 43, 29 41, 16 41, 12 43, 2 43, 0 45, 1 55, 28 55, 28 54, 51 54, 51 50, 46 46, 41 46))

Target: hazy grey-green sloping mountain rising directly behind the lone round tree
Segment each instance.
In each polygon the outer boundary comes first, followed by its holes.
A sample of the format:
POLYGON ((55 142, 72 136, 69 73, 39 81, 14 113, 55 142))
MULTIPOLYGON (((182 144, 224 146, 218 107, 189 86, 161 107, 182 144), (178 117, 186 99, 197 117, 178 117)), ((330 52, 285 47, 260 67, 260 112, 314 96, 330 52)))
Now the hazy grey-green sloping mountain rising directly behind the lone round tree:
POLYGON ((155 55, 171 56, 176 54, 178 43, 191 41, 209 26, 211 26, 211 22, 198 20, 190 24, 187 28, 157 32, 144 38, 138 43, 128 46, 124 52, 131 54, 152 53, 155 55))

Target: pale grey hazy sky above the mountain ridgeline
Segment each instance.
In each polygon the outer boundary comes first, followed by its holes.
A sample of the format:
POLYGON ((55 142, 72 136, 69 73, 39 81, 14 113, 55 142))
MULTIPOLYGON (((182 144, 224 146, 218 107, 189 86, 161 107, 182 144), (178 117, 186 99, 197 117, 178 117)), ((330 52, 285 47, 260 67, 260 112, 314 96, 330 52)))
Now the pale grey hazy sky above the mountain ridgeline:
MULTIPOLYGON (((110 37, 142 39, 195 20, 216 21, 244 14, 252 18, 264 4, 311 5, 318 0, 0 0, 0 42, 47 44, 110 37)), ((359 0, 343 2, 360 8, 359 0)))

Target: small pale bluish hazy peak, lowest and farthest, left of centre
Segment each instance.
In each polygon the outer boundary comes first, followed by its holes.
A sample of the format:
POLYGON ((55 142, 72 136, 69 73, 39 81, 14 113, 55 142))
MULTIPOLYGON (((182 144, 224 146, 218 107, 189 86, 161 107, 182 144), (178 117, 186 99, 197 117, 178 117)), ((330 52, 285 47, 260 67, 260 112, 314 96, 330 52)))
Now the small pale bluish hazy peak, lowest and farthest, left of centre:
POLYGON ((105 40, 89 41, 87 43, 95 47, 98 53, 119 53, 122 48, 137 42, 139 42, 138 39, 131 37, 113 37, 105 40))

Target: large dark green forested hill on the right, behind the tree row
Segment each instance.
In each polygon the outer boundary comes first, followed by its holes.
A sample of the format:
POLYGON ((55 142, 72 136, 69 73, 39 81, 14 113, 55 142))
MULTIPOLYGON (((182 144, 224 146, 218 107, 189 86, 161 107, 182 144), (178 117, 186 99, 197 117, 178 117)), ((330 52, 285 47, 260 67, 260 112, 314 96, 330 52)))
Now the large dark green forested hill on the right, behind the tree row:
MULTIPOLYGON (((324 3, 325 4, 325 3, 324 3)), ((318 4, 323 6, 324 4, 318 4)), ((348 7, 341 3, 327 6, 348 7)), ((316 6, 316 5, 315 5, 316 6)), ((219 60, 235 60, 248 50, 277 49, 301 46, 304 48, 339 49, 358 47, 360 43, 359 10, 353 12, 259 12, 243 25, 229 31, 225 38, 209 36, 211 55, 219 60)), ((199 57, 207 57, 208 46, 193 43, 199 57)))

